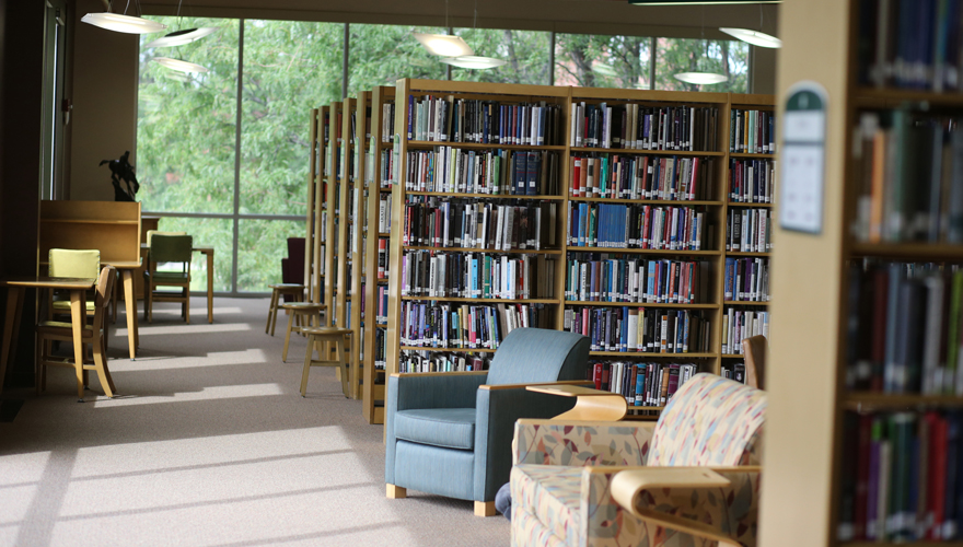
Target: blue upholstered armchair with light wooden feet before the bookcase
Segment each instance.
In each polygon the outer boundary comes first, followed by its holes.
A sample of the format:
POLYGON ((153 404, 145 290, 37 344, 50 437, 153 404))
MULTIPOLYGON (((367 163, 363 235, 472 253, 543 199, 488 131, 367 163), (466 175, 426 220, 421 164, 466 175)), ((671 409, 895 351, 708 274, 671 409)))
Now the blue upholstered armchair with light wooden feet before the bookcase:
POLYGON ((407 489, 475 501, 495 514, 495 493, 511 474, 519 418, 549 418, 573 400, 525 385, 585 381, 589 339, 559 330, 517 328, 488 371, 392 374, 385 411, 384 480, 388 498, 407 489))

